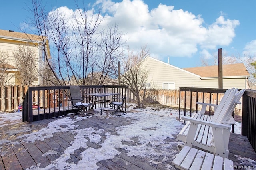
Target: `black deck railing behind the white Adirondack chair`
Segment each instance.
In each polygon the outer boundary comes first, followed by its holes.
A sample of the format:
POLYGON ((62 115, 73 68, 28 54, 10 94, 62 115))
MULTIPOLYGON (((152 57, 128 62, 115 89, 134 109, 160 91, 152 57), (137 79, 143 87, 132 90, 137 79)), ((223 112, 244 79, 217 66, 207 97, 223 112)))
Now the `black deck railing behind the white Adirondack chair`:
MULTIPOLYGON (((184 115, 186 113, 192 116, 192 112, 198 112, 198 105, 196 102, 205 102, 218 104, 221 100, 221 96, 227 89, 211 89, 211 88, 191 88, 180 87, 179 93, 179 120, 182 109, 184 109, 184 115), (199 95, 202 95, 202 101, 198 101, 199 95)), ((246 90, 242 97, 242 132, 241 134, 247 136, 248 140, 252 144, 254 151, 256 152, 256 91, 246 90)), ((208 108, 209 115, 211 115, 212 109, 208 108)), ((234 117, 234 111, 233 111, 234 117)), ((234 132, 234 126, 232 126, 232 132, 234 132)))

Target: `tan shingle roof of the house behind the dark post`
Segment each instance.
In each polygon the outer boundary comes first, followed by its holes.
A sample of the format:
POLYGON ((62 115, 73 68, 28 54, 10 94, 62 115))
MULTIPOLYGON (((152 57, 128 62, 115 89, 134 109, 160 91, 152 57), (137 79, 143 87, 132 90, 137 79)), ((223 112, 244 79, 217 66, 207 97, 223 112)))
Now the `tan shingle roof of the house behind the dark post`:
MULTIPOLYGON (((222 69, 223 77, 250 77, 243 63, 223 65, 222 69)), ((218 77, 218 65, 184 68, 184 70, 200 75, 200 77, 218 77)))

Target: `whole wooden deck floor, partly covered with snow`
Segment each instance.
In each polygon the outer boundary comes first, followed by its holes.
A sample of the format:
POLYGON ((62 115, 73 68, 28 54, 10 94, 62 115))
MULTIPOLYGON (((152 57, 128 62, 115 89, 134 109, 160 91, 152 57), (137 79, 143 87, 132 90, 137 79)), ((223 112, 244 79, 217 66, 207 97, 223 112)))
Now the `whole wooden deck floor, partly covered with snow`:
MULTIPOLYGON (((0 114, 1 170, 171 170, 181 144, 176 135, 184 126, 177 111, 156 107, 131 109, 120 117, 106 111, 32 123, 17 123, 20 115, 0 114)), ((229 150, 236 168, 256 168, 256 153, 246 137, 231 134, 229 150)))

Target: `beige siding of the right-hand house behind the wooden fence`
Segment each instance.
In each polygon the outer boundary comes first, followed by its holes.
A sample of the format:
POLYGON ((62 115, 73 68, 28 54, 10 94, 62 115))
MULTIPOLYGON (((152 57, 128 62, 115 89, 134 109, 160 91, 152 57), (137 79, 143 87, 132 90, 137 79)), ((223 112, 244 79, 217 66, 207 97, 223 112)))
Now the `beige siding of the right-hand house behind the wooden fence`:
MULTIPOLYGON (((174 83, 174 89, 180 87, 204 87, 218 88, 218 79, 206 79, 200 77, 184 69, 180 69, 168 63, 164 63, 152 57, 147 57, 143 65, 148 70, 148 82, 151 87, 163 89, 163 83, 174 83)), ((247 88, 246 78, 224 78, 223 88, 230 89, 232 87, 239 89, 247 88)), ((173 84, 170 85, 173 87, 173 84)))

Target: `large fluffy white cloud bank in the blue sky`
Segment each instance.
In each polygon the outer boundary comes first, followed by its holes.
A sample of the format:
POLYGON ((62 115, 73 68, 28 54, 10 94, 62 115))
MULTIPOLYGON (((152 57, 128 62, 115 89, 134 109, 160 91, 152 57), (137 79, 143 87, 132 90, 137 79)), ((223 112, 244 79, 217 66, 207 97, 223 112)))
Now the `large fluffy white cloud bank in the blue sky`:
MULTIPOLYGON (((236 35, 234 29, 239 25, 238 20, 220 16, 216 22, 205 27, 200 15, 164 4, 150 11, 142 0, 98 0, 95 5, 102 7, 102 13, 106 12, 101 28, 118 24, 130 48, 147 44, 150 55, 157 58, 190 57, 200 51, 199 48, 204 51, 216 49, 218 45, 229 45, 236 35)), ((74 26, 72 16, 79 10, 73 11, 67 7, 56 10, 63 11, 70 25, 74 26)), ((88 12, 92 16, 93 9, 88 12)))

